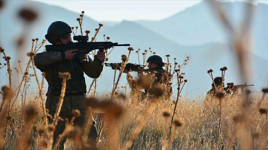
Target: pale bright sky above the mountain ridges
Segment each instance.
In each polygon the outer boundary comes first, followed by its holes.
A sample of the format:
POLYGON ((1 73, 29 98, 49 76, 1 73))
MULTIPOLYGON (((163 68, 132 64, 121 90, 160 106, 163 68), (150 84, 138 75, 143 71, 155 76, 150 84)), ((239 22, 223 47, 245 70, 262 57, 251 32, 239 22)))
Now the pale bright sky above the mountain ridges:
MULTIPOLYGON (((133 0, 133 1, 65 1, 65 0, 39 0, 49 5, 63 7, 77 13, 85 11, 85 15, 96 21, 116 21, 122 20, 136 21, 136 20, 162 20, 166 19, 185 8, 194 6, 203 0, 133 0)), ((234 1, 234 0, 231 0, 234 1)), ((243 1, 243 0, 242 0, 243 1)), ((224 2, 227 2, 225 0, 224 2)), ((256 0, 257 3, 268 4, 268 0, 256 0)))

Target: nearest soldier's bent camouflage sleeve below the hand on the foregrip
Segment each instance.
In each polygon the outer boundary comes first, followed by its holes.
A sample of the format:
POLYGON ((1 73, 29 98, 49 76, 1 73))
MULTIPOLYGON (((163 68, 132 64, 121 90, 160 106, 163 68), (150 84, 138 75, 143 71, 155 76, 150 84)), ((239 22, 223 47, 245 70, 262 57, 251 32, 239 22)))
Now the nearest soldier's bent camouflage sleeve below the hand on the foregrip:
POLYGON ((95 58, 92 60, 89 58, 88 62, 82 64, 84 73, 91 78, 98 78, 103 70, 103 65, 100 65, 99 61, 95 58))

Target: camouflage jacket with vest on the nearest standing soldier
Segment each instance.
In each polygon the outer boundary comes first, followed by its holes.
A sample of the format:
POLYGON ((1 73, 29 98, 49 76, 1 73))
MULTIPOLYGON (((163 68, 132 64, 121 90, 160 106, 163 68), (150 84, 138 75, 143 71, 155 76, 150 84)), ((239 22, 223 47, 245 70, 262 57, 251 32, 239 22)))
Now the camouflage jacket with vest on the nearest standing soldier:
POLYGON ((56 112, 60 99, 62 79, 59 78, 59 72, 71 74, 71 79, 66 82, 60 115, 72 115, 72 110, 75 109, 80 110, 81 113, 86 111, 82 104, 87 92, 84 73, 88 77, 98 78, 103 69, 103 65, 99 64, 96 56, 94 56, 94 60, 89 58, 88 62, 80 63, 77 55, 70 61, 65 60, 64 52, 41 52, 37 53, 33 60, 36 68, 44 73, 48 82, 46 109, 50 114, 56 112))

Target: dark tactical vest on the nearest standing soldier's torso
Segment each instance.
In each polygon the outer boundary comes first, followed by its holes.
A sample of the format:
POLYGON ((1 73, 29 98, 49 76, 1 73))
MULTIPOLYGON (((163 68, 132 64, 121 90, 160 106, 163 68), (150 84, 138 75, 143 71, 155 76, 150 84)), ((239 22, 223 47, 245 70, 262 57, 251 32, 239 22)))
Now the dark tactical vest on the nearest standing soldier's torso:
POLYGON ((87 93, 83 68, 79 64, 78 56, 75 55, 72 61, 64 60, 54 63, 50 66, 50 68, 51 82, 48 83, 48 93, 60 95, 63 79, 60 79, 59 72, 69 72, 71 74, 71 79, 66 81, 65 94, 87 93))

